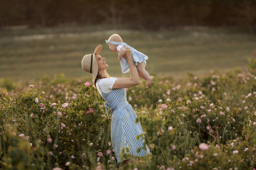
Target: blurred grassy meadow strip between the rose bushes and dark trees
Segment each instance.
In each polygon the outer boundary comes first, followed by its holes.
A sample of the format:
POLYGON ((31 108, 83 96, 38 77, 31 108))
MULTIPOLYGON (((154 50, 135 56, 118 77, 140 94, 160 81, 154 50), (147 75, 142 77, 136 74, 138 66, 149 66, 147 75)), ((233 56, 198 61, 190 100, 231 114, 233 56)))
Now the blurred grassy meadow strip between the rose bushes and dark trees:
POLYGON ((85 54, 102 45, 111 76, 121 74, 117 54, 105 40, 113 33, 148 55, 146 70, 153 75, 204 74, 209 70, 245 68, 248 57, 256 58, 256 37, 225 29, 174 31, 111 30, 109 27, 69 27, 0 32, 0 77, 32 80, 64 73, 66 77, 90 76, 82 71, 85 54))

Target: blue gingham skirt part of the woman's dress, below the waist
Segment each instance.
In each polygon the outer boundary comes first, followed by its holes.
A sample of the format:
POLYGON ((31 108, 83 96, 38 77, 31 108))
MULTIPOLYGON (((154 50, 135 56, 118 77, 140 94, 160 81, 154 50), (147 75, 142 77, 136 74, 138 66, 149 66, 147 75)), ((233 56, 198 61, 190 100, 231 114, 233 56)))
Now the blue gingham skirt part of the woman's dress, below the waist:
POLYGON ((118 108, 112 112, 111 142, 118 163, 129 159, 122 157, 122 148, 128 148, 128 152, 125 153, 131 153, 135 157, 150 153, 147 145, 146 150, 141 149, 137 153, 137 149, 143 147, 144 140, 141 138, 136 140, 136 136, 143 133, 140 122, 135 124, 136 117, 133 107, 127 101, 119 104, 118 108))

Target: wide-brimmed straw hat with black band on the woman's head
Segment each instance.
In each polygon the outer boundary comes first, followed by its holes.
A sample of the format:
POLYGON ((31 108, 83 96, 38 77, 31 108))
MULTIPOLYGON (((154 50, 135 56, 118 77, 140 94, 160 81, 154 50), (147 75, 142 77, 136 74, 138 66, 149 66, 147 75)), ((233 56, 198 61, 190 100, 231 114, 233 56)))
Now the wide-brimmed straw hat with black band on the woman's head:
POLYGON ((95 78, 97 77, 98 74, 98 64, 95 59, 95 54, 99 54, 102 49, 101 45, 98 45, 93 54, 87 54, 84 55, 82 59, 82 69, 86 72, 92 73, 92 81, 94 83, 95 78))

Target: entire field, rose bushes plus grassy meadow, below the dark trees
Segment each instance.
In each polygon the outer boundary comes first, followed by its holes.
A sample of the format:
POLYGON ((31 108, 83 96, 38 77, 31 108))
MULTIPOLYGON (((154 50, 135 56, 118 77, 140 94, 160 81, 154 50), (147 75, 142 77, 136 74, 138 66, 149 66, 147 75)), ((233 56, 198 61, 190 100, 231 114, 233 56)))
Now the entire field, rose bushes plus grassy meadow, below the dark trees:
POLYGON ((256 37, 95 27, 0 32, 1 170, 119 168, 111 116, 81 68, 101 44, 110 75, 128 76, 105 44, 113 33, 148 55, 153 76, 126 89, 151 154, 123 169, 256 169, 256 37))

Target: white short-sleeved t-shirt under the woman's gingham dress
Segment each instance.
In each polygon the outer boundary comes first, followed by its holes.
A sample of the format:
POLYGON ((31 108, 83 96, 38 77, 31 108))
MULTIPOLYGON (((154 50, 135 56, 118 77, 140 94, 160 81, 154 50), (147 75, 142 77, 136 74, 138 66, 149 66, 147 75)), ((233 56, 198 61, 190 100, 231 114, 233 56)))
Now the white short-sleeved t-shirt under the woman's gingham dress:
POLYGON ((102 78, 100 80, 96 81, 96 87, 98 91, 101 93, 109 93, 112 90, 112 87, 115 83, 116 77, 110 77, 110 78, 102 78))

